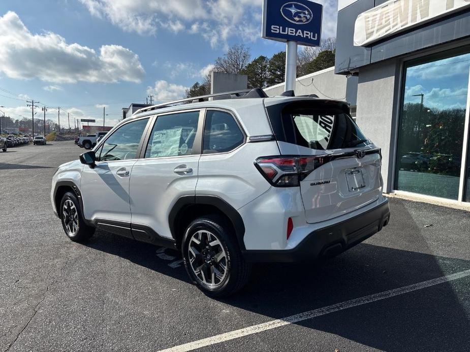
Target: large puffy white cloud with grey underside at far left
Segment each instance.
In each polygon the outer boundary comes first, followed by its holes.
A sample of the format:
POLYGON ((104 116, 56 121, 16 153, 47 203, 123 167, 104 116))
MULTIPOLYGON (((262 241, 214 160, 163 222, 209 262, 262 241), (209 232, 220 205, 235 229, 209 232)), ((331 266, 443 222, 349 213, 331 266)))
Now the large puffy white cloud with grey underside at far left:
POLYGON ((58 34, 31 33, 14 12, 0 17, 0 72, 15 79, 39 78, 53 83, 140 82, 145 74, 139 57, 118 45, 99 52, 68 44, 58 34))

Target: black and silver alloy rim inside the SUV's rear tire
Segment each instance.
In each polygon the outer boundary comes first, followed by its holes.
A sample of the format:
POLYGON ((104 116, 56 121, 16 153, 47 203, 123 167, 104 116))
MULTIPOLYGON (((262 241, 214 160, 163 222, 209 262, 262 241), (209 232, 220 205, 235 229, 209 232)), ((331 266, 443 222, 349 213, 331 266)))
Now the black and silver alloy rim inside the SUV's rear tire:
POLYGON ((227 253, 213 233, 201 230, 193 234, 187 251, 191 269, 202 284, 215 288, 223 283, 227 276, 227 253))

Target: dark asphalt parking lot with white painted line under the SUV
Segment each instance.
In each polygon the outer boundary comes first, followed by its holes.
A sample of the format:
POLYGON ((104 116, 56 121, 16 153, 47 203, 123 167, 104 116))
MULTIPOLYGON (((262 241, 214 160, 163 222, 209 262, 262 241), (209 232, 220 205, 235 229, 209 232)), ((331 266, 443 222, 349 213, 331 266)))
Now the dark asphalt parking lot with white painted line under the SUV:
POLYGON ((1 351, 468 350, 470 213, 391 199, 389 226, 352 250, 256 265, 243 292, 214 300, 175 252, 67 239, 50 180, 82 151, 0 153, 1 351))

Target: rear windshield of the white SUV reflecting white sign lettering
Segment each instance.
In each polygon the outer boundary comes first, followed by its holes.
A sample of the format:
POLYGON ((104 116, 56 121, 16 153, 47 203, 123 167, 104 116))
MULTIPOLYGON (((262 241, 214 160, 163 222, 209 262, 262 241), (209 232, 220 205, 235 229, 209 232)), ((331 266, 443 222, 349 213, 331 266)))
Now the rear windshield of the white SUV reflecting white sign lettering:
POLYGON ((276 138, 283 142, 316 150, 369 144, 351 116, 340 105, 299 101, 286 104, 277 111, 268 109, 268 115, 276 138))

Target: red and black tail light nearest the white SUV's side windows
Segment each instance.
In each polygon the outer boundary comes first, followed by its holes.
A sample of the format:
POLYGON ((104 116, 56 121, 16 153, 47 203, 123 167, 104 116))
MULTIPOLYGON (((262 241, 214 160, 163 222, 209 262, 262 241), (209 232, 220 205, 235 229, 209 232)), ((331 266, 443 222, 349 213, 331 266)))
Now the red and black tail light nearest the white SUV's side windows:
POLYGON ((328 156, 268 156, 255 165, 268 182, 276 187, 297 187, 300 181, 323 165, 328 156))

